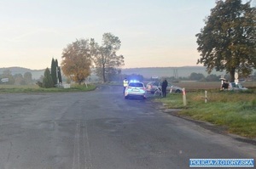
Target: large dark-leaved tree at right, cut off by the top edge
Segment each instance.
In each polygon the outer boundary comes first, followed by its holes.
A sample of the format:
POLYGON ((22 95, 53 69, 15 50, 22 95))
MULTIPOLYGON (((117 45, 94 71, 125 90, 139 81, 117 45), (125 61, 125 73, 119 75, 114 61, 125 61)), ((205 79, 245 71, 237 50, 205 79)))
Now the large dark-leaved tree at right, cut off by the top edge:
POLYGON ((205 26, 196 34, 201 59, 197 64, 226 70, 230 82, 235 73, 248 76, 256 68, 256 8, 241 0, 219 0, 205 26))

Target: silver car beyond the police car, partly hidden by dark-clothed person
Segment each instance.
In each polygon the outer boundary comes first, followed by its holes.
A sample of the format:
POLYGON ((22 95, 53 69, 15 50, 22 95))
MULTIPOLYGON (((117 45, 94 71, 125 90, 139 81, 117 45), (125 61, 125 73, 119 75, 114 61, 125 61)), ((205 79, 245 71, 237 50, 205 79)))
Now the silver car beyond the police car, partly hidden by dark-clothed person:
MULTIPOLYGON (((146 85, 146 90, 147 92, 154 93, 158 87, 162 87, 162 82, 148 82, 146 85)), ((172 93, 182 93, 183 88, 182 87, 177 87, 175 85, 172 85, 171 83, 168 83, 168 86, 166 88, 166 92, 170 93, 172 89, 172 93)))

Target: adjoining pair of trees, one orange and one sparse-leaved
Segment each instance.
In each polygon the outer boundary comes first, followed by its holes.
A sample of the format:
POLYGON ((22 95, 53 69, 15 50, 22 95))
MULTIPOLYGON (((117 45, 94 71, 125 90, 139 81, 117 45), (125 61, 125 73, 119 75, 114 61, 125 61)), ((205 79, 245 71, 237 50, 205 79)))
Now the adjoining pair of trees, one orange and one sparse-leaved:
POLYGON ((121 46, 119 37, 104 33, 101 45, 93 38, 76 40, 63 49, 61 69, 63 74, 81 84, 93 70, 102 82, 111 81, 119 75, 124 56, 118 55, 121 46))

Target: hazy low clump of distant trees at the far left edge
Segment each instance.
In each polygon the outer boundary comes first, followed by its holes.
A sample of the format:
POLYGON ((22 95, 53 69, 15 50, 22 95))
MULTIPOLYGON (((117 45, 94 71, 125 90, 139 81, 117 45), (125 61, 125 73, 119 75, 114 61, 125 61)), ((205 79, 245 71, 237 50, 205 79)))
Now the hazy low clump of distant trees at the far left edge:
POLYGON ((11 70, 3 70, 3 74, 0 75, 0 79, 3 79, 3 78, 8 78, 8 82, 0 81, 0 84, 30 85, 33 82, 31 72, 25 72, 24 75, 22 74, 12 75, 11 70))

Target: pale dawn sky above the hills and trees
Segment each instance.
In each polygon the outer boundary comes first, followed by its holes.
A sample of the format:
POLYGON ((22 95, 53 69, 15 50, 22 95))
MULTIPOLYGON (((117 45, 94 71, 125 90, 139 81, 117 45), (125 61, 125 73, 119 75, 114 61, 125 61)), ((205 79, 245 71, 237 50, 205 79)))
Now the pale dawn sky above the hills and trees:
POLYGON ((121 68, 196 65, 195 34, 215 0, 0 0, 0 67, 32 70, 61 63, 67 44, 110 32, 121 68))

